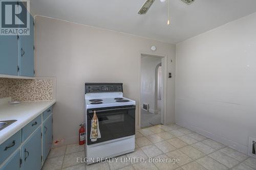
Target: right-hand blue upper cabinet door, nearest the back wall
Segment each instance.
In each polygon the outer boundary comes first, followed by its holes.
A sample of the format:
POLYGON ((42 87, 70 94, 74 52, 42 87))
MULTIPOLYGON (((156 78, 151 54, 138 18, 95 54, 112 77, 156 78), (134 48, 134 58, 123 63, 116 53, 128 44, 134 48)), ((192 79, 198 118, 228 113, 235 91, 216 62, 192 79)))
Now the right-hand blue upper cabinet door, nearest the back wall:
POLYGON ((19 36, 19 76, 34 77, 34 18, 30 15, 30 35, 19 36))

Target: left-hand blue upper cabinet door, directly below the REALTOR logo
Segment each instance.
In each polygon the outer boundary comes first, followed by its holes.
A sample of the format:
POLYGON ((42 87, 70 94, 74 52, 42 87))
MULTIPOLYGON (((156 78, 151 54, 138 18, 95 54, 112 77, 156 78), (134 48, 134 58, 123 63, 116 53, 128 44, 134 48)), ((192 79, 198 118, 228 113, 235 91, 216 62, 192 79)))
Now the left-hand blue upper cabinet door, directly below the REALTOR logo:
POLYGON ((0 74, 18 76, 17 56, 17 36, 0 35, 0 74))

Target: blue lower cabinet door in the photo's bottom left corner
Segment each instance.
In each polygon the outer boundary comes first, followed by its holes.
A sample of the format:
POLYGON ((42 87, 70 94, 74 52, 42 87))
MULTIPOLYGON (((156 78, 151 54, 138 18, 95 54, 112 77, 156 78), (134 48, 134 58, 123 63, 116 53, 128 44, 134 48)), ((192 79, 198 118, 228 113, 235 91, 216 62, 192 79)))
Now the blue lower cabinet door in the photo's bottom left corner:
POLYGON ((0 170, 20 170, 20 150, 18 150, 0 170))

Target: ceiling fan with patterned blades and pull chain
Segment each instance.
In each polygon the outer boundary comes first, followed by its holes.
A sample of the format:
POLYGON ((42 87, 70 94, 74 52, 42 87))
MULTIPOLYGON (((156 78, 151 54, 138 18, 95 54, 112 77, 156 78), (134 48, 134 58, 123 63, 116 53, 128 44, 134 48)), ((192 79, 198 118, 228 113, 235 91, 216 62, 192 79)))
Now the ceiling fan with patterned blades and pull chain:
MULTIPOLYGON (((162 3, 165 2, 165 0, 160 0, 162 3)), ((191 3, 193 3, 195 0, 181 0, 182 2, 186 3, 187 5, 190 5, 191 3)), ((150 7, 152 6, 152 4, 155 2, 155 0, 146 0, 144 2, 144 4, 142 5, 142 7, 140 8, 138 14, 140 15, 144 15, 147 13, 147 11, 150 9, 150 7)), ((168 21, 167 21, 167 25, 170 24, 170 0, 168 0, 168 21)))

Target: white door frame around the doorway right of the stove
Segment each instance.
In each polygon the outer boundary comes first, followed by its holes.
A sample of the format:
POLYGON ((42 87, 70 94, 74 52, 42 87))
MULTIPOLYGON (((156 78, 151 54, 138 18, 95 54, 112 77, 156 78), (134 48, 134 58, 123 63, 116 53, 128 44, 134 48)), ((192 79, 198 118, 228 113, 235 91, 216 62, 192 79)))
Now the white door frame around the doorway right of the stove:
POLYGON ((151 52, 140 52, 139 53, 139 103, 138 103, 138 122, 136 124, 137 130, 141 129, 141 56, 147 56, 147 57, 159 57, 162 58, 162 66, 164 66, 164 69, 162 70, 162 78, 163 78, 163 89, 162 89, 162 104, 163 108, 161 110, 161 122, 163 122, 164 125, 167 124, 167 54, 156 54, 151 52))

